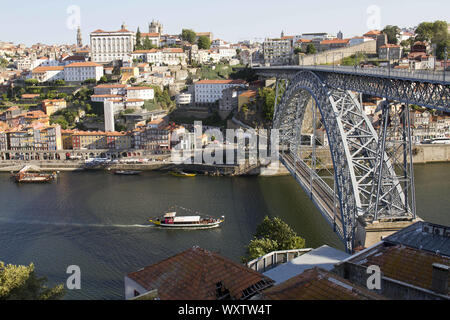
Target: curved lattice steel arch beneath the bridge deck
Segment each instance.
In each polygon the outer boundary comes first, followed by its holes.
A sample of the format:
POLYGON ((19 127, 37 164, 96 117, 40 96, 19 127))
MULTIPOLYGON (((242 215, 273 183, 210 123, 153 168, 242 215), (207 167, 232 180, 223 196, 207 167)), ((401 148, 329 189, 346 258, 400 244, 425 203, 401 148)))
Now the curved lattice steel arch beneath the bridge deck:
MULTIPOLYGON (((330 192, 335 196, 336 203, 333 206, 339 211, 339 223, 334 221, 333 227, 346 250, 353 252, 361 244, 358 234, 363 229, 364 221, 373 218, 370 213, 375 202, 389 206, 389 214, 400 218, 412 216, 411 209, 405 202, 401 184, 395 178, 395 169, 386 156, 381 159, 381 165, 385 175, 391 177, 391 184, 387 187, 384 185, 383 188, 389 190, 384 198, 374 199, 375 171, 380 167, 377 159, 378 134, 350 91, 329 87, 312 71, 300 71, 292 77, 281 102, 276 106, 273 127, 280 132, 280 160, 286 165, 290 157, 295 166, 302 165, 299 157, 301 130, 306 105, 311 97, 326 130, 334 167, 335 190, 330 189, 330 192)), ((315 172, 311 174, 313 179, 321 180, 315 172)), ((312 184, 300 184, 312 194, 312 184)), ((326 190, 325 183, 322 183, 321 188, 326 190)), ((314 202, 327 220, 332 222, 329 212, 332 209, 326 210, 325 206, 318 204, 317 199, 314 202)))

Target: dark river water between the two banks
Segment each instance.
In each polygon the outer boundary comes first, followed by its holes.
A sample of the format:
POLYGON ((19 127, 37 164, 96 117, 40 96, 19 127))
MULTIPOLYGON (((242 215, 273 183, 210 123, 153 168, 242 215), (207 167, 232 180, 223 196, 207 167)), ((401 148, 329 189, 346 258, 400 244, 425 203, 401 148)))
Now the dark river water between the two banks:
MULTIPOLYGON (((450 225, 450 163, 415 166, 418 214, 450 225)), ((124 276, 192 246, 239 262, 264 216, 279 216, 307 247, 344 249, 293 178, 177 178, 158 172, 115 176, 62 173, 45 185, 19 185, 0 174, 0 261, 28 265, 50 285, 81 268, 81 290, 66 299, 123 299, 124 276), (163 230, 149 217, 172 205, 226 216, 213 230, 163 230)), ((191 212, 176 211, 191 215, 191 212)))

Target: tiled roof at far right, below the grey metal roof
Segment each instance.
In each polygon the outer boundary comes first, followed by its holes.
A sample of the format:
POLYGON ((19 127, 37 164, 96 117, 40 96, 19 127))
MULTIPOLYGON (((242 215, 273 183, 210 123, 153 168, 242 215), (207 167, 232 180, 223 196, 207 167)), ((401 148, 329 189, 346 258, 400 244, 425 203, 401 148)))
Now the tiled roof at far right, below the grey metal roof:
MULTIPOLYGON (((364 258, 361 265, 377 265, 388 278, 431 290, 433 263, 450 266, 450 258, 397 245, 374 250, 364 258)), ((450 283, 450 278, 448 281, 450 283)))

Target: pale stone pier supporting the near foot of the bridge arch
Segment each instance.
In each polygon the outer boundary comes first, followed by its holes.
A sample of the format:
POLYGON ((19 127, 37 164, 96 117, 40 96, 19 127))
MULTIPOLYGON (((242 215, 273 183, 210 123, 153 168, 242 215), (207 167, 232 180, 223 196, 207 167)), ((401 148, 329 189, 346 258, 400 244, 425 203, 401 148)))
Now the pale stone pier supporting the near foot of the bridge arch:
POLYGON ((409 227, 410 225, 422 221, 420 218, 407 221, 374 221, 365 226, 365 243, 363 247, 369 248, 381 241, 383 238, 390 236, 397 231, 409 227))

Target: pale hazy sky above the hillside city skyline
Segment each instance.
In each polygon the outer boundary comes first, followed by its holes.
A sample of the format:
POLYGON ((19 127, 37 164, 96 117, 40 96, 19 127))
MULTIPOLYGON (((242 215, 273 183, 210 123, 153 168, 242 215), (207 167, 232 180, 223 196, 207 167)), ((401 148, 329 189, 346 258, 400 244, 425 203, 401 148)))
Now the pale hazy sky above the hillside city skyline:
POLYGON ((164 33, 182 29, 212 32, 214 38, 237 42, 310 32, 362 35, 386 25, 414 27, 422 21, 450 21, 448 0, 25 0, 2 1, 0 41, 45 44, 83 43, 97 30, 148 32, 153 19, 164 33))

